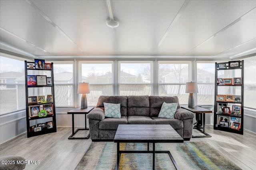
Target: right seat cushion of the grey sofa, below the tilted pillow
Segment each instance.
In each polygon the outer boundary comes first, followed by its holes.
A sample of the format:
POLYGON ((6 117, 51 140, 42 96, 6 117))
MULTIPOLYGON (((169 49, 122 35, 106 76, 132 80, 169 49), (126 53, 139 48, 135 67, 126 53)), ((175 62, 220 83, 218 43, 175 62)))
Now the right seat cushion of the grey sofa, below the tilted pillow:
POLYGON ((159 117, 152 117, 156 124, 169 124, 173 127, 173 129, 182 129, 183 128, 183 121, 179 119, 166 119, 166 118, 159 118, 159 117))

